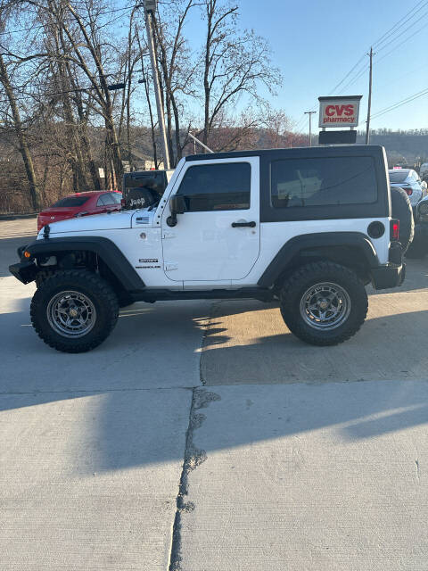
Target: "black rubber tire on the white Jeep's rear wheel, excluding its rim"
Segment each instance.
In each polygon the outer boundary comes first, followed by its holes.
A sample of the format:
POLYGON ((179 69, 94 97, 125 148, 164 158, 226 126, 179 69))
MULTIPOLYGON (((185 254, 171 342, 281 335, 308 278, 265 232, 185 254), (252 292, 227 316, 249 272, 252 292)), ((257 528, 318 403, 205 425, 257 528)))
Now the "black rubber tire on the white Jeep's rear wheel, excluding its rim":
POLYGON ((281 315, 290 331, 301 341, 312 345, 336 345, 355 335, 366 319, 366 288, 357 274, 331 261, 318 261, 297 269, 280 292, 281 315), (335 328, 320 330, 310 325, 300 311, 309 288, 318 284, 338 285, 350 302, 349 314, 335 328))

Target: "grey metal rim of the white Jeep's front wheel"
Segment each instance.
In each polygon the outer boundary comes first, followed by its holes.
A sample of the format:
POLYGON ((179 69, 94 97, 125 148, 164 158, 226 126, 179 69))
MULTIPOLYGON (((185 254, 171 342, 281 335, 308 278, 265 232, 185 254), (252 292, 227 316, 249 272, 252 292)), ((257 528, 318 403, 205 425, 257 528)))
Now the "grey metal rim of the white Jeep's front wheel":
POLYGON ((49 325, 63 337, 77 339, 88 334, 95 326, 94 303, 81 292, 56 294, 46 312, 49 325))

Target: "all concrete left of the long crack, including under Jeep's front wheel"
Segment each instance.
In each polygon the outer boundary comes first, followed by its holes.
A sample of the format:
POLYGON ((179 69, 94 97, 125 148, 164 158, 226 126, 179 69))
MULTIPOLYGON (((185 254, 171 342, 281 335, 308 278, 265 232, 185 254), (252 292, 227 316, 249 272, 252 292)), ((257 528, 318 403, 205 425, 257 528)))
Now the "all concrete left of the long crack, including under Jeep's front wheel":
POLYGON ((0 224, 0 568, 163 571, 210 304, 135 304, 96 352, 55 352, 7 271, 33 226, 0 224))

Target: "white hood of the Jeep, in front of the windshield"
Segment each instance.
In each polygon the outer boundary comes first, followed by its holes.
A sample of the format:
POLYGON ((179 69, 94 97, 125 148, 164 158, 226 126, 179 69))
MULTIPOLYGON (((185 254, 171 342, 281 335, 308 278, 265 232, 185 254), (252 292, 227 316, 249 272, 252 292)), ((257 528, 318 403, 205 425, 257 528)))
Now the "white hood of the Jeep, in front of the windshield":
MULTIPOLYGON (((80 218, 70 218, 49 224, 53 234, 71 234, 74 232, 96 232, 99 230, 115 230, 119 228, 131 228, 133 211, 117 211, 111 214, 95 214, 92 216, 81 216, 80 218)), ((43 228, 38 236, 43 237, 43 228)))

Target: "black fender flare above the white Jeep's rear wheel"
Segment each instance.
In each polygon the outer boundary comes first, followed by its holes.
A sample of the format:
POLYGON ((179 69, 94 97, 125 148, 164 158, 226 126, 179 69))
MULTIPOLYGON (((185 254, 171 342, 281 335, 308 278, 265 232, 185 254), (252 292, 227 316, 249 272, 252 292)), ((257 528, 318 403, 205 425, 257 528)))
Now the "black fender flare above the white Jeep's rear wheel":
POLYGON ((358 247, 363 253, 369 268, 377 268, 380 263, 374 245, 361 232, 319 232, 294 236, 286 242, 275 258, 270 262, 259 278, 259 287, 271 287, 284 272, 292 259, 303 250, 314 250, 323 247, 351 246, 358 247))

